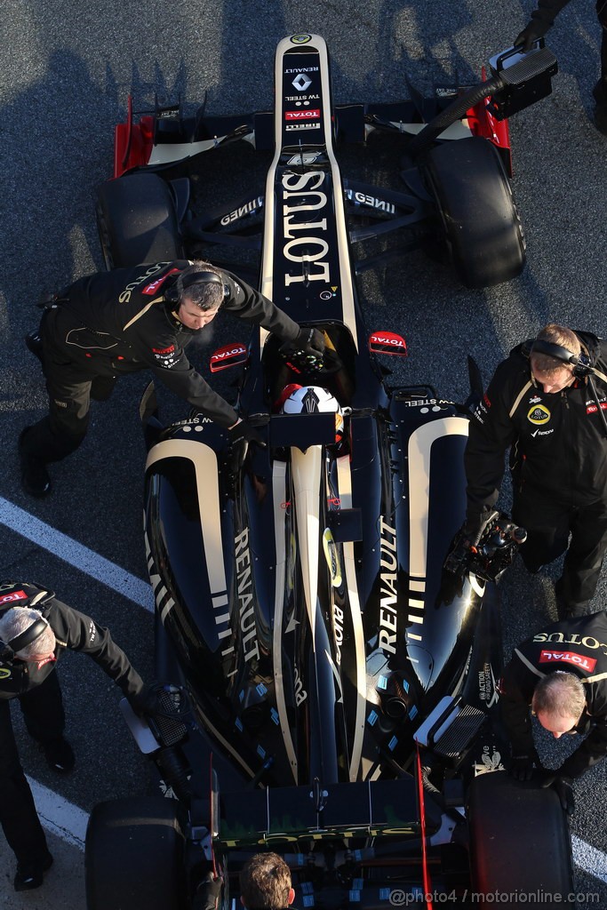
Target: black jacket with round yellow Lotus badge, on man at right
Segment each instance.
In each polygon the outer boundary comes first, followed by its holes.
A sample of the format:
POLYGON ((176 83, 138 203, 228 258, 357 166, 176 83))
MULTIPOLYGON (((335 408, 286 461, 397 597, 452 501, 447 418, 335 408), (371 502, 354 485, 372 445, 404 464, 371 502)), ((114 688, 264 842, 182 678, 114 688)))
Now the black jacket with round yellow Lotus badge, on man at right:
MULTIPOLYGON (((589 332, 576 335, 599 370, 593 381, 607 415, 607 345, 589 332)), ((497 500, 509 447, 519 490, 531 485, 566 504, 607 500, 607 433, 586 379, 546 393, 532 379, 523 349, 519 345, 502 360, 470 420, 469 518, 497 500)))

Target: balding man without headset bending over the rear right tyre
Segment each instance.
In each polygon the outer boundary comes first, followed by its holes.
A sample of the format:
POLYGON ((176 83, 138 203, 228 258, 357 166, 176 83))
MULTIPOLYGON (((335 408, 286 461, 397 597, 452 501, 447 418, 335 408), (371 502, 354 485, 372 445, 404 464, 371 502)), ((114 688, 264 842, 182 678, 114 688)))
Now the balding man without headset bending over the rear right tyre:
POLYGON ((572 811, 571 781, 607 755, 607 612, 552 622, 512 652, 500 683, 501 716, 511 740, 511 773, 553 785, 572 811), (541 767, 531 713, 555 739, 588 734, 555 771, 541 767))

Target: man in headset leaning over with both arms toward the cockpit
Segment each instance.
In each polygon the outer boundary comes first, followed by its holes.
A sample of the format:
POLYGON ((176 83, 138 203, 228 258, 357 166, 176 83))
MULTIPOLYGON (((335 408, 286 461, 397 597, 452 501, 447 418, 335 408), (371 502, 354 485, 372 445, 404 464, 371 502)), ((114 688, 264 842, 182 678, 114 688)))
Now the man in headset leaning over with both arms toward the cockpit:
POLYGON ((49 414, 19 437, 22 484, 46 496, 46 470, 80 445, 90 398, 105 400, 122 373, 152 369, 157 379, 229 430, 235 445, 258 442, 256 430, 207 385, 189 363, 187 344, 220 308, 261 325, 302 356, 322 356, 318 329, 297 322, 230 272, 200 260, 147 263, 80 278, 47 304, 40 334, 28 347, 40 356, 49 414))

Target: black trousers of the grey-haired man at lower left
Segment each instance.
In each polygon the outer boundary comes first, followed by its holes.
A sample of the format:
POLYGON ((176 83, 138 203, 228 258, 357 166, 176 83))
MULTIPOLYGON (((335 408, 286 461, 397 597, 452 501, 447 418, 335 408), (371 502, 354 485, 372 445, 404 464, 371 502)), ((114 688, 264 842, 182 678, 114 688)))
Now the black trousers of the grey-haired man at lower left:
MULTIPOLYGON (((31 692, 18 695, 16 701, 27 731, 39 743, 63 733, 66 719, 56 672, 31 692)), ((46 855, 45 832, 19 761, 10 702, 6 699, 0 699, 0 824, 18 863, 35 863, 46 855)))

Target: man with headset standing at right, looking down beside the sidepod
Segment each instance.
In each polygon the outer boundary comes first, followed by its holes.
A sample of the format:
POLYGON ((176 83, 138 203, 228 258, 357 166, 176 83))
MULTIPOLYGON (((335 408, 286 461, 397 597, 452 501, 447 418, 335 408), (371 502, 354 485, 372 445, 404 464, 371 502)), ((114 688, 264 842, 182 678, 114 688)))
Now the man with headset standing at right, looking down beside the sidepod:
POLYGON ((551 323, 511 350, 470 420, 463 534, 479 541, 510 447, 525 566, 536 572, 567 552, 554 589, 561 618, 585 612, 607 548, 606 374, 607 344, 551 323))

